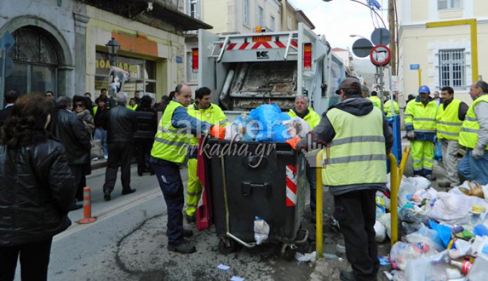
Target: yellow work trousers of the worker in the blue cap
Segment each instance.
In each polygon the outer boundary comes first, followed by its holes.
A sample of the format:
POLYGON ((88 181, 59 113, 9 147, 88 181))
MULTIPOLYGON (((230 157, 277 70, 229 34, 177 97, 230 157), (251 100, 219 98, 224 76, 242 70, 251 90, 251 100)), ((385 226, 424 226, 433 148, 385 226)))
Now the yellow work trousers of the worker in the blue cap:
POLYGON ((411 140, 413 175, 430 175, 434 168, 434 143, 429 140, 411 140))

